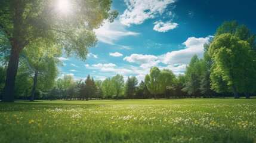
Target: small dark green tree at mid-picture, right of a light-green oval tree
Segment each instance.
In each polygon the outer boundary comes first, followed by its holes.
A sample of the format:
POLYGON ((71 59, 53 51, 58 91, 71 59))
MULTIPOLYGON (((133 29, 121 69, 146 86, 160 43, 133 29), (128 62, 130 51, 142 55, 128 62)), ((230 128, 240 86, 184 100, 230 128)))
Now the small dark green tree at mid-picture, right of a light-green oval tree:
POLYGON ((125 83, 125 92, 127 94, 127 98, 133 99, 137 85, 138 79, 135 76, 132 76, 131 78, 128 77, 127 82, 125 83))

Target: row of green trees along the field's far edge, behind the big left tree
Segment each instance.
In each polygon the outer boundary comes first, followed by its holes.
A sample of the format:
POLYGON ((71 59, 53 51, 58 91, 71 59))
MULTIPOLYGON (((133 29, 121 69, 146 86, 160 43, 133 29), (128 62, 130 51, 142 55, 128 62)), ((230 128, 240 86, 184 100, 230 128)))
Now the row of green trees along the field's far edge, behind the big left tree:
MULTIPOLYGON (((203 45, 203 58, 199 59, 194 55, 184 74, 176 77, 169 69, 152 67, 139 84, 135 76, 129 76, 124 81, 124 77, 119 74, 103 81, 94 80, 90 75, 86 80, 80 81, 74 81, 69 75, 55 80, 58 73, 56 66, 61 65, 57 60, 61 51, 59 48, 47 47, 43 48, 45 51, 38 51, 33 49, 34 46, 27 46, 20 54, 16 98, 30 98, 30 101, 34 97, 44 100, 118 100, 227 96, 239 98, 239 95, 249 98, 256 95, 255 34, 251 34, 245 24, 238 25, 237 21, 225 21, 221 24, 214 38, 203 45)), ((1 93, 6 70, 6 67, 0 67, 1 93)))

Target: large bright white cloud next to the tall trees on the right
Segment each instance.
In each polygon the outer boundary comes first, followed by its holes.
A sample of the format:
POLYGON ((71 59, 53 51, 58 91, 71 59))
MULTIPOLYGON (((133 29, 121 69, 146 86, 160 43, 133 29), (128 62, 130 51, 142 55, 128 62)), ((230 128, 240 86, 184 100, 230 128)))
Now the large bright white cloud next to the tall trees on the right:
POLYGON ((206 38, 190 37, 186 42, 182 43, 186 46, 185 49, 167 52, 159 56, 159 58, 164 64, 189 64, 193 55, 196 54, 199 58, 203 57, 203 44, 208 43, 212 37, 213 36, 207 36, 206 38))

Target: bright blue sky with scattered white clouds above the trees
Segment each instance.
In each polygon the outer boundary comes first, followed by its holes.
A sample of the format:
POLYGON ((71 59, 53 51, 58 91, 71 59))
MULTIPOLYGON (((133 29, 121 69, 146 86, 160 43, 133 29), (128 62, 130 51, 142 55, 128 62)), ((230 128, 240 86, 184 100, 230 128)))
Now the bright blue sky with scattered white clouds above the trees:
POLYGON ((139 82, 150 67, 184 74, 193 55, 203 58, 203 44, 214 38, 224 21, 237 20, 256 33, 255 0, 112 0, 119 15, 95 29, 97 46, 85 61, 59 58, 60 74, 75 80, 104 80, 121 74, 139 82))

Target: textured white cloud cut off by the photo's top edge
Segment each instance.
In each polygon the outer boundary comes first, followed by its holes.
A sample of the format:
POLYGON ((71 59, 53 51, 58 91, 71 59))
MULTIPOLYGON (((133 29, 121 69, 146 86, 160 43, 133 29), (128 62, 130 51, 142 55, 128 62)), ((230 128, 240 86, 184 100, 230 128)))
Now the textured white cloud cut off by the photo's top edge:
POLYGON ((125 0, 127 9, 120 15, 122 24, 141 24, 144 20, 155 18, 158 14, 163 14, 169 4, 175 0, 125 0))

